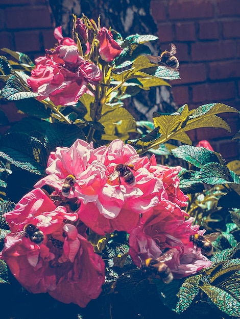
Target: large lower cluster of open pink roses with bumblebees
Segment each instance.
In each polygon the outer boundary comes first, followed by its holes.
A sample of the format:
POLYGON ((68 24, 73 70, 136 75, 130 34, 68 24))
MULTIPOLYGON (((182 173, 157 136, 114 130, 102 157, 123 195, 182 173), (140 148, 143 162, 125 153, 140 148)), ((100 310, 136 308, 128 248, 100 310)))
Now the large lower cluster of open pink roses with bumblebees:
POLYGON ((158 166, 155 156, 139 157, 120 140, 109 146, 77 140, 70 148, 58 147, 47 163, 47 175, 5 214, 11 233, 2 252, 14 276, 33 293, 48 292, 54 298, 84 307, 101 293, 105 264, 87 241, 87 227, 97 234, 130 233, 129 254, 141 267, 147 258, 158 258, 167 249, 173 257, 165 263, 175 278, 209 267, 211 262, 189 242, 191 234, 203 233, 181 209, 187 196, 179 189, 180 167, 158 166), (124 178, 109 180, 117 164, 134 166, 134 184, 124 178), (75 177, 68 198, 62 196, 66 177, 75 177), (54 202, 40 188, 55 189, 54 202), (66 202, 77 202, 73 211, 66 202), (188 218, 188 219, 187 219, 188 218), (36 244, 22 236, 33 224, 44 234, 36 244))

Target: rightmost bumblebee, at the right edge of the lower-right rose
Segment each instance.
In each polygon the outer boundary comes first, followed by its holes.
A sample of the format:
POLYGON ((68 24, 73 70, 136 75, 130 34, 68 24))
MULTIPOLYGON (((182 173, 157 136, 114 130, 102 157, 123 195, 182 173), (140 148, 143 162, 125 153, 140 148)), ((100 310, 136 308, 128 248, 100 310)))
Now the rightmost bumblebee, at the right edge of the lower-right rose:
POLYGON ((219 232, 213 232, 208 235, 190 235, 189 241, 193 242, 193 245, 196 246, 196 249, 201 249, 203 255, 211 256, 213 253, 213 246, 212 243, 218 236, 219 232))

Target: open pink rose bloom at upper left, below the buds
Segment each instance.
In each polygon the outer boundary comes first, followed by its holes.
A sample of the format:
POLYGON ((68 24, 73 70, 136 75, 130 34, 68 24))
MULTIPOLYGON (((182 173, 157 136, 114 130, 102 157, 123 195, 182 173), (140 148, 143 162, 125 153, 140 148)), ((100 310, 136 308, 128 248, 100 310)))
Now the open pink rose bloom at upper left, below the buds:
POLYGON ((87 91, 87 84, 98 84, 102 71, 79 55, 75 45, 59 45, 35 60, 36 67, 27 79, 38 100, 47 97, 55 105, 73 105, 87 91))

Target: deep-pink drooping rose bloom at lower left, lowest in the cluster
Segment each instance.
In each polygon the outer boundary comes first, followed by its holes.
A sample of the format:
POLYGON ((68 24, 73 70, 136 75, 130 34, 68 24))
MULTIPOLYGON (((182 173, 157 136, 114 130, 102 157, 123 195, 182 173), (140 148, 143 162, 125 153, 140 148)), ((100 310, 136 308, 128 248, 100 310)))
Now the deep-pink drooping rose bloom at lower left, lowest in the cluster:
POLYGON ((23 287, 80 307, 98 298, 105 265, 86 234, 70 224, 78 220, 76 213, 56 207, 42 190, 35 189, 5 217, 12 232, 5 238, 1 258, 23 287), (42 243, 36 244, 24 231, 28 224, 42 231, 42 243))

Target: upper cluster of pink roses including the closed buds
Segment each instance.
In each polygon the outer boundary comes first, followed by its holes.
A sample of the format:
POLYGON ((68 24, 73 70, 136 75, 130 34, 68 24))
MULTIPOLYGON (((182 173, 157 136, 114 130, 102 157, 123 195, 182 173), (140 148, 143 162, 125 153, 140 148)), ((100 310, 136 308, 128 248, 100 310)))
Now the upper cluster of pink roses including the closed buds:
MULTIPOLYGON (((76 30, 86 46, 85 55, 87 55, 94 42, 88 42, 88 29, 79 18, 76 21, 76 30)), ((97 85, 103 79, 103 74, 99 65, 80 55, 73 39, 62 36, 61 26, 55 29, 54 36, 59 45, 53 50, 46 50, 45 57, 35 60, 36 67, 32 70, 27 83, 33 92, 38 93, 38 100, 50 98, 55 105, 73 105, 83 93, 90 92, 88 84, 97 85)), ((98 52, 104 61, 112 61, 123 50, 106 28, 98 31, 97 40, 98 52)))

